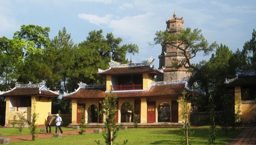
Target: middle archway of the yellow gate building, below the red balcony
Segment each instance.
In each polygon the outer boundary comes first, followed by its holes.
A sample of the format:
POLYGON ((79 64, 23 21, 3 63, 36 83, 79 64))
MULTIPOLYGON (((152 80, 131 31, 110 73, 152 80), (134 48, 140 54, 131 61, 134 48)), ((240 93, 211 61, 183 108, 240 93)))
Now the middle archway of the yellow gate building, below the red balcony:
POLYGON ((130 101, 125 101, 121 106, 121 122, 132 122, 133 104, 130 101))

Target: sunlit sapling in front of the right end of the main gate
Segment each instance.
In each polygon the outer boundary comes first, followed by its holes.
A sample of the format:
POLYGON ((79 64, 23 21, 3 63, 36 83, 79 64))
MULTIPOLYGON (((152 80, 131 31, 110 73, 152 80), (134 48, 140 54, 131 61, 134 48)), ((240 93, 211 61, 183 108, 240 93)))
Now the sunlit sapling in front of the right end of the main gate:
POLYGON ((192 136, 194 131, 190 130, 190 122, 189 122, 189 95, 186 97, 187 92, 183 91, 181 97, 181 101, 179 102, 182 106, 182 119, 183 123, 180 124, 180 139, 182 145, 189 145, 189 139, 192 140, 192 136))

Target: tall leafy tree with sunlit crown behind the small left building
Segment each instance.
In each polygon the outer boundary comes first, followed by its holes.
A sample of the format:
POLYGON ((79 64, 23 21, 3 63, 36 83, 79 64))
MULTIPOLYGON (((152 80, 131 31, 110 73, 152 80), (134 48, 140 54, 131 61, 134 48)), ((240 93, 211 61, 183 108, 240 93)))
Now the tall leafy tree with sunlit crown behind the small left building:
POLYGON ((20 66, 20 77, 18 82, 41 82, 47 80, 47 73, 43 61, 43 52, 49 45, 50 28, 42 28, 38 25, 22 25, 20 31, 14 32, 13 38, 19 38, 26 41, 24 48, 24 65, 20 66))

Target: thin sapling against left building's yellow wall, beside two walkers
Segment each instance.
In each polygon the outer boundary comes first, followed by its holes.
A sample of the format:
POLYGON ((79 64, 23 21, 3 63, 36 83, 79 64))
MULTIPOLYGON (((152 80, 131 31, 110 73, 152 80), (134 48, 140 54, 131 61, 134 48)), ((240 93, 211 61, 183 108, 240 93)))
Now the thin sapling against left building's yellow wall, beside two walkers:
POLYGON ((36 120, 38 119, 38 115, 39 113, 36 113, 36 100, 34 99, 32 101, 32 105, 33 105, 33 113, 31 114, 31 124, 29 126, 30 129, 30 133, 32 134, 32 140, 35 140, 36 138, 36 128, 37 128, 37 124, 35 123, 36 120))

